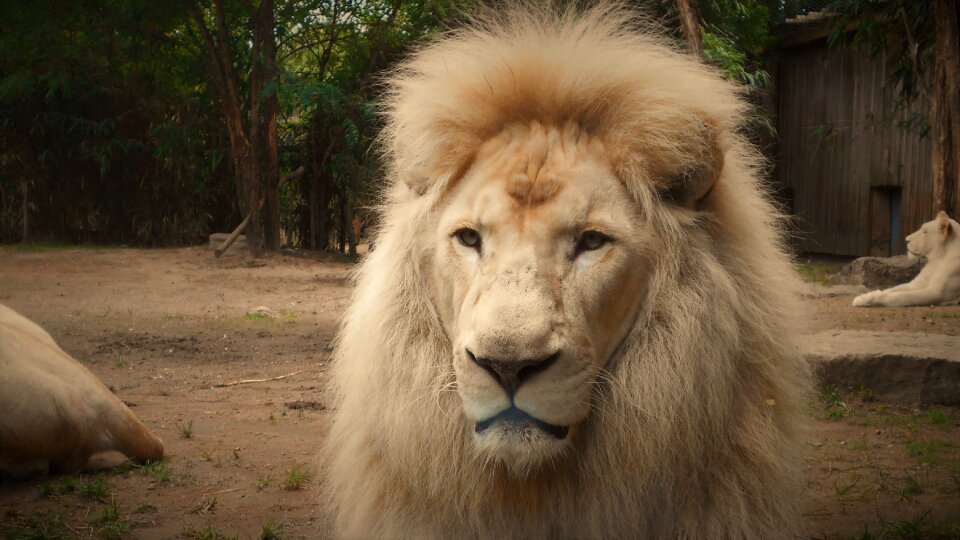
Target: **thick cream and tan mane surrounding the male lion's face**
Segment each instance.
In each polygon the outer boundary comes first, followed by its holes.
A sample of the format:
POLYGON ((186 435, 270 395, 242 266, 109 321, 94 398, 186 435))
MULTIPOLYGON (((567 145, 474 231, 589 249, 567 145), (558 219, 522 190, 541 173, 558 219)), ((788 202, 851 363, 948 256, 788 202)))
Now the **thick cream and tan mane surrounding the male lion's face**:
MULTIPOLYGON (((800 534, 799 285, 737 88, 629 10, 480 17, 387 80, 390 166, 332 371, 330 526, 343 538, 800 534), (432 216, 509 126, 575 123, 662 240, 571 451, 526 476, 472 445, 425 270, 432 216), (677 190, 698 176, 710 189, 677 190)), ((637 279, 641 279, 640 276, 637 279)))

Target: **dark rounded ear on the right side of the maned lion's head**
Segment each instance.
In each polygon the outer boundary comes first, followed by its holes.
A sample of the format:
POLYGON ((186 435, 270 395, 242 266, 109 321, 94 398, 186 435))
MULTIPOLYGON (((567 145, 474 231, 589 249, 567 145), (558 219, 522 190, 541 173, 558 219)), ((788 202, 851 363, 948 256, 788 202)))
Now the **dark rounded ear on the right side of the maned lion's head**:
POLYGON ((661 190, 664 200, 691 210, 710 194, 723 171, 723 151, 716 131, 709 125, 704 125, 703 131, 694 139, 700 144, 688 150, 692 161, 670 174, 661 190))

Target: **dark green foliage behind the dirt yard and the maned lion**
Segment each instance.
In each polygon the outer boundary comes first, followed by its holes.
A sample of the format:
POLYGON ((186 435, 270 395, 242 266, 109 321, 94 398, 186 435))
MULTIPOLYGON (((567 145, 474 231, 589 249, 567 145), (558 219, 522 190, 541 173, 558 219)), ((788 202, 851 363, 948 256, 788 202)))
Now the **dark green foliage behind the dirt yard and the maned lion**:
MULTIPOLYGON (((219 98, 188 12, 209 13, 209 1, 0 3, 0 242, 24 240, 25 211, 31 241, 142 246, 200 243, 241 220, 219 98)), ((234 65, 247 74, 243 3, 224 5, 234 65)), ((680 46, 673 2, 637 5, 680 46)), ((281 173, 306 169, 280 194, 287 246, 344 249, 347 217, 366 219, 382 175, 379 74, 476 7, 276 0, 278 73, 260 98, 278 97, 281 173)), ((701 9, 707 61, 761 95, 782 3, 705 0, 701 9)))

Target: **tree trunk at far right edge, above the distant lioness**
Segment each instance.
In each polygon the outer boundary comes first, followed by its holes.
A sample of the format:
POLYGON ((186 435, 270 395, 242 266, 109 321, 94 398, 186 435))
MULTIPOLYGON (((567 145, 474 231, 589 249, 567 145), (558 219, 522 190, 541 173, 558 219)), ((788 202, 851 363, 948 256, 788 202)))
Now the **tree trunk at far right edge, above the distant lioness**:
POLYGON ((934 212, 960 217, 960 33, 953 0, 936 0, 930 128, 933 142, 934 212))

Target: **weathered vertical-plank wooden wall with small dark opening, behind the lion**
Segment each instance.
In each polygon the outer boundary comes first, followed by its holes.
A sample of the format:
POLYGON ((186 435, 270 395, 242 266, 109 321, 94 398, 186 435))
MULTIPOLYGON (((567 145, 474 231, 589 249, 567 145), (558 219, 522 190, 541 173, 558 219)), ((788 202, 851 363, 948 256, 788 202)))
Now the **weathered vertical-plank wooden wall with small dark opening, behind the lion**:
POLYGON ((823 39, 782 51, 776 178, 802 251, 905 253, 903 237, 932 218, 930 140, 898 125, 926 105, 896 109, 884 62, 823 39))

